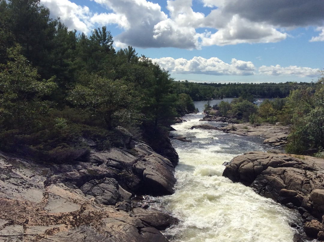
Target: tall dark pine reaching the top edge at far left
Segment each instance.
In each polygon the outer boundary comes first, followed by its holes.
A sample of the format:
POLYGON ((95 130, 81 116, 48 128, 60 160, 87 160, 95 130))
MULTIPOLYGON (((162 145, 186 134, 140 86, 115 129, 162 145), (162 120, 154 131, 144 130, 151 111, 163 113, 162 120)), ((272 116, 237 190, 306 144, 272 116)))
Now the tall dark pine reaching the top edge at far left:
POLYGON ((48 8, 39 5, 40 0, 10 0, 7 10, 10 21, 8 27, 15 40, 22 47, 23 55, 34 65, 44 78, 51 63, 49 49, 55 34, 56 21, 53 21, 48 8))

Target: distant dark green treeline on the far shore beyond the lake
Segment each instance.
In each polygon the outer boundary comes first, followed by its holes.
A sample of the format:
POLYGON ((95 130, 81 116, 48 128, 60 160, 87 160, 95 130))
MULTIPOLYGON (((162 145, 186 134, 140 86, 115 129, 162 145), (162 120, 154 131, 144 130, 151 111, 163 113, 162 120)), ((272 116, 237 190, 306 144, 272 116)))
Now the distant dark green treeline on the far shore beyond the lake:
POLYGON ((189 94, 193 101, 223 97, 262 97, 284 98, 298 86, 314 86, 314 82, 284 82, 284 83, 196 83, 178 81, 173 83, 176 93, 189 94))

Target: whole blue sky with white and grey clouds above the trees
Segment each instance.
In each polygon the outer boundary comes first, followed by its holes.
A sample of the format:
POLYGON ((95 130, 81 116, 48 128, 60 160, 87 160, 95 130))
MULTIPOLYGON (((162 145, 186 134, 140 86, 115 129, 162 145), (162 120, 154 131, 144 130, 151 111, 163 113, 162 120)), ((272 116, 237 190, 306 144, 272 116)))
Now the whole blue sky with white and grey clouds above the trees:
POLYGON ((91 35, 106 26, 176 81, 316 82, 324 69, 323 0, 41 0, 91 35))

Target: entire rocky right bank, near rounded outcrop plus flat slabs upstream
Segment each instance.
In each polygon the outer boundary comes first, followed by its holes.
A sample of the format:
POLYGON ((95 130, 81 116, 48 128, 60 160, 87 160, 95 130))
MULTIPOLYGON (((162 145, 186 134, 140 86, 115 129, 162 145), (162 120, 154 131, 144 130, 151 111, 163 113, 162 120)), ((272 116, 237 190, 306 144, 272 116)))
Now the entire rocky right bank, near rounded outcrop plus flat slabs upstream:
MULTIPOLYGON (((189 129, 265 138, 263 144, 279 149, 287 143, 289 127, 249 123, 226 125, 220 120, 210 119, 208 116, 200 119, 199 122, 202 124, 196 124, 189 129)), ((183 138, 195 142, 190 136, 183 138)), ((274 151, 283 153, 280 150, 274 151)), ((307 236, 310 239, 324 239, 323 159, 254 151, 234 157, 225 164, 226 168, 222 173, 224 177, 251 187, 258 194, 271 198, 300 214, 297 216, 300 218, 299 222, 294 222, 296 221, 294 219, 289 222, 299 231, 295 233, 293 241, 306 241, 307 236)))

